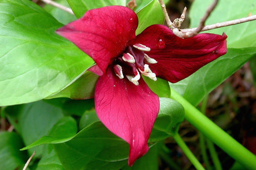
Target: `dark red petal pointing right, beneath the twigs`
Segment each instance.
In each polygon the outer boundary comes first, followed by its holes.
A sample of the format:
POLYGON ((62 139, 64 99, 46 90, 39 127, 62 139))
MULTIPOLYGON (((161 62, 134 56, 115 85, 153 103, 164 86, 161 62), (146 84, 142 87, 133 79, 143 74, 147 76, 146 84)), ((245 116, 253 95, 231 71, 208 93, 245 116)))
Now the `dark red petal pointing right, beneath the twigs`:
POLYGON ((157 63, 149 64, 156 76, 172 83, 185 79, 227 52, 227 36, 201 33, 182 39, 164 25, 151 25, 131 43, 150 47, 146 52, 157 63))

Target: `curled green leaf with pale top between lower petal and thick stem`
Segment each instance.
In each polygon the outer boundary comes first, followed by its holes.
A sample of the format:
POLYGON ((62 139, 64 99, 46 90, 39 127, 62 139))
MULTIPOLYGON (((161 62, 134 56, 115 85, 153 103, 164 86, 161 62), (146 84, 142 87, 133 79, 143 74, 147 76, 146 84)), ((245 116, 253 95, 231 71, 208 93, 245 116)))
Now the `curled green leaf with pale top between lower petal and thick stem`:
POLYGON ((151 132, 149 142, 156 142, 171 137, 177 132, 180 123, 184 120, 183 106, 170 98, 159 98, 160 110, 151 132))

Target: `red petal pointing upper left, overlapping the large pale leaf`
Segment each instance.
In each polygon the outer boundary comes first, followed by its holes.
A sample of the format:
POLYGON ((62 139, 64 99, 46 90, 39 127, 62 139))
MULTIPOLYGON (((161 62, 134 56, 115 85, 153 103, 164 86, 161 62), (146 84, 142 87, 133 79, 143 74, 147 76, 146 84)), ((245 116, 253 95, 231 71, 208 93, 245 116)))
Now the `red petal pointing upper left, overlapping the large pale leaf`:
POLYGON ((85 15, 56 32, 90 55, 105 72, 114 57, 123 53, 127 42, 135 38, 137 15, 124 6, 107 6, 85 15))

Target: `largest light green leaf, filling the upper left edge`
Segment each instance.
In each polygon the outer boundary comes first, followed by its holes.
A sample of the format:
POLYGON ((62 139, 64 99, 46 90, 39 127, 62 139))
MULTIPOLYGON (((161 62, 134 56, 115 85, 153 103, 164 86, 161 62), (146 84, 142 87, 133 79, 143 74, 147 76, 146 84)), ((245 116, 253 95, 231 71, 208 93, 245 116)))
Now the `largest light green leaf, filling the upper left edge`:
POLYGON ((2 0, 0 13, 0 106, 52 95, 93 64, 55 33, 62 24, 35 3, 2 0))

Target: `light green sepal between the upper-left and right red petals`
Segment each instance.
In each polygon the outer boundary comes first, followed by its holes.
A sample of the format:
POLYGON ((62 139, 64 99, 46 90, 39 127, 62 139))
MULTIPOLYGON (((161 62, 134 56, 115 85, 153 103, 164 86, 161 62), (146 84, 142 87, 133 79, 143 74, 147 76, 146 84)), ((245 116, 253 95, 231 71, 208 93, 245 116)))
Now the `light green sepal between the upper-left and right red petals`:
POLYGON ((162 12, 161 5, 157 0, 151 1, 143 7, 137 15, 139 18, 139 25, 136 30, 136 35, 141 33, 150 25, 164 23, 164 14, 162 12))

